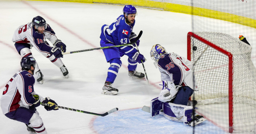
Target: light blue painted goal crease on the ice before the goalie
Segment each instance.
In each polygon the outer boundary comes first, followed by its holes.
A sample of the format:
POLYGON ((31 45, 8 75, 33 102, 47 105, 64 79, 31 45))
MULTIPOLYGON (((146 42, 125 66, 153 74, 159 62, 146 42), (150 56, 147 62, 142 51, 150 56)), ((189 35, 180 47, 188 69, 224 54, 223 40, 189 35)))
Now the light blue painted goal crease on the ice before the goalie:
MULTIPOLYGON (((154 118, 138 109, 117 111, 95 119, 94 129, 98 134, 192 134, 193 128, 183 123, 169 121, 159 115, 154 118)), ((196 134, 227 134, 210 121, 196 126, 196 134)))

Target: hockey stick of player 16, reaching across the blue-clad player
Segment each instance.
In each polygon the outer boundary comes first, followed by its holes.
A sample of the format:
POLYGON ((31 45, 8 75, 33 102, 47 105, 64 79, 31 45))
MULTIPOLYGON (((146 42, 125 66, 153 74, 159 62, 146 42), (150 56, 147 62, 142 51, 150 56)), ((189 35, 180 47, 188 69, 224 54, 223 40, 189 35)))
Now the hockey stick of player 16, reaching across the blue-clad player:
POLYGON ((92 50, 98 50, 98 49, 108 49, 108 48, 111 48, 111 47, 123 47, 123 46, 127 46, 127 45, 132 45, 132 44, 136 43, 137 40, 139 40, 139 38, 141 38, 141 35, 142 35, 142 31, 139 33, 139 35, 132 42, 130 42, 130 44, 114 45, 114 46, 108 46, 108 47, 98 47, 98 48, 94 48, 94 49, 85 49, 85 50, 71 51, 71 52, 62 53, 62 55, 70 54, 70 53, 79 53, 79 52, 85 52, 85 51, 92 51, 92 50))

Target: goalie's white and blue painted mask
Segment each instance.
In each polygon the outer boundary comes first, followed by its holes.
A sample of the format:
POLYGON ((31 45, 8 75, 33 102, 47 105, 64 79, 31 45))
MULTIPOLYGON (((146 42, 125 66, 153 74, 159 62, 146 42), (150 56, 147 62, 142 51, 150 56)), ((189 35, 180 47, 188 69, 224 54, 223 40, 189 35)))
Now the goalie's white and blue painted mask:
POLYGON ((150 51, 150 57, 152 60, 154 60, 154 65, 157 68, 158 60, 160 59, 161 55, 167 53, 165 48, 162 47, 161 45, 157 44, 154 45, 150 51))

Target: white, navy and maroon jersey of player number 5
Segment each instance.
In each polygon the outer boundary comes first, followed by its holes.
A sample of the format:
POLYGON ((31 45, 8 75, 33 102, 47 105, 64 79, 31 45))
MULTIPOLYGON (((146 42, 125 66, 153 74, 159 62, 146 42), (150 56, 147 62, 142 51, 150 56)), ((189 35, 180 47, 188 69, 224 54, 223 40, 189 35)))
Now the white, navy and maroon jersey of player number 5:
MULTIPOLYGON (((29 108, 35 102, 33 97, 35 79, 28 71, 19 71, 6 84, 0 105, 3 114, 15 111, 19 107, 29 108)), ((43 101, 41 97, 41 102, 43 101)))

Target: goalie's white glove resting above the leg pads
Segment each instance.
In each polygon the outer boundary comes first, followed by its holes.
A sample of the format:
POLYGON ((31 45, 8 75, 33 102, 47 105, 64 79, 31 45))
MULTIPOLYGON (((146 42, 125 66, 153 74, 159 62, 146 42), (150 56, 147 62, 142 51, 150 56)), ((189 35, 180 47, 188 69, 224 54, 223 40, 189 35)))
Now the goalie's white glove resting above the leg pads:
POLYGON ((163 82, 163 89, 159 94, 158 100, 161 102, 169 102, 173 98, 175 98, 177 92, 179 91, 179 87, 175 86, 174 83, 171 81, 162 81, 163 82))

